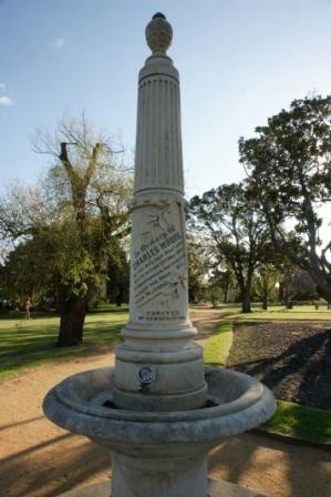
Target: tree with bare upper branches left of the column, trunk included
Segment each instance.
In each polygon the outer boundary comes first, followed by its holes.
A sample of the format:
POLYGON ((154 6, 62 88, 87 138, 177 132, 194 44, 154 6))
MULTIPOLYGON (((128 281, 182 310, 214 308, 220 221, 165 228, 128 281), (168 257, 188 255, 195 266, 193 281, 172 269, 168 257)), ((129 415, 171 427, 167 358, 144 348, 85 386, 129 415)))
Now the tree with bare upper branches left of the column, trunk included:
POLYGON ((12 187, 0 202, 0 232, 17 244, 6 265, 15 270, 12 290, 29 282, 29 294, 52 296, 58 345, 76 345, 107 261, 127 234, 131 180, 121 154, 84 116, 63 120, 54 138, 39 134, 34 149, 51 154, 52 165, 38 186, 12 187))

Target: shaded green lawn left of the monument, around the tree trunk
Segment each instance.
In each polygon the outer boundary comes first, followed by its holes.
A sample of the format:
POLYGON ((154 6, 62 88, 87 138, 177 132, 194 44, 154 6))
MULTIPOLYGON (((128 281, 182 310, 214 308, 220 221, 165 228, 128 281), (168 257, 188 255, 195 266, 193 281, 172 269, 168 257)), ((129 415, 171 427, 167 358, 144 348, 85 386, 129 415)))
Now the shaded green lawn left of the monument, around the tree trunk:
MULTIPOLYGON (((103 310, 102 310, 103 311, 103 310)), ((120 341, 127 321, 127 311, 93 312, 87 314, 84 343, 77 347, 58 348, 59 317, 33 314, 24 320, 19 313, 0 318, 0 379, 18 372, 73 356, 97 354, 120 341)))

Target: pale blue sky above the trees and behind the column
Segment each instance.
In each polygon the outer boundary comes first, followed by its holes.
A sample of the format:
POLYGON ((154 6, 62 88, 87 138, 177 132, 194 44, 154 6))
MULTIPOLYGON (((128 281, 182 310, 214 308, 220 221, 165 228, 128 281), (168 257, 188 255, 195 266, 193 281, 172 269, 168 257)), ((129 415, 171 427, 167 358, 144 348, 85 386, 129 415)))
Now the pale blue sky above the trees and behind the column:
POLYGON ((0 0, 0 191, 43 173, 31 140, 64 114, 84 111, 134 150, 157 11, 174 29, 187 196, 245 176, 240 135, 293 99, 331 93, 330 0, 0 0))

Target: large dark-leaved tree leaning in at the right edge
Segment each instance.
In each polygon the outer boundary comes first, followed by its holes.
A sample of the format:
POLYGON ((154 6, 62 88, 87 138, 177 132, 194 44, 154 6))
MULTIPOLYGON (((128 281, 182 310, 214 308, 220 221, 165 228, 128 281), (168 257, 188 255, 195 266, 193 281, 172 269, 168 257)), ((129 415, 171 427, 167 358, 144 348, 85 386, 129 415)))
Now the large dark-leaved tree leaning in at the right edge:
POLYGON ((294 100, 256 132, 239 140, 240 161, 272 243, 331 301, 331 241, 322 243, 319 210, 331 201, 331 97, 294 100))

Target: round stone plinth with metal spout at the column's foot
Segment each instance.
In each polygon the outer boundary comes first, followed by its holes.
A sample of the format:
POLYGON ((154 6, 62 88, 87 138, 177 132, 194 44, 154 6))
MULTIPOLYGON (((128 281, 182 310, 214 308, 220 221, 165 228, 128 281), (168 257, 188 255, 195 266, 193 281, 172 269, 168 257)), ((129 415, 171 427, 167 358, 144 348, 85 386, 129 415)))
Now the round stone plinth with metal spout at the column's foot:
POLYGON ((156 413, 204 407, 207 402, 204 351, 182 336, 194 331, 188 326, 163 329, 158 333, 162 339, 143 341, 139 336, 144 331, 126 326, 122 332, 126 342, 116 347, 115 354, 114 405, 124 410, 156 413), (146 383, 144 371, 149 375, 146 383))

